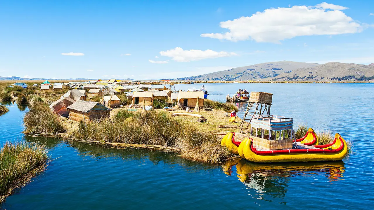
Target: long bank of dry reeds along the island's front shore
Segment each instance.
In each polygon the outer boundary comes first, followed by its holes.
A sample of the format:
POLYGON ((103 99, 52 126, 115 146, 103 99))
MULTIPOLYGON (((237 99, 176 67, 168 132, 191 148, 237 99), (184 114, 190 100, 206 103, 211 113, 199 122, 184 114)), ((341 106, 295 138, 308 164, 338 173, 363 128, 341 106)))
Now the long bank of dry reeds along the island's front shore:
POLYGON ((128 146, 132 148, 157 149, 157 146, 180 151, 183 158, 206 163, 218 163, 231 156, 217 141, 217 135, 197 126, 172 119, 166 112, 120 110, 114 121, 80 122, 69 133, 69 138, 97 143, 128 146), (128 145, 125 145, 128 144, 128 145), (142 145, 142 146, 140 146, 142 145))

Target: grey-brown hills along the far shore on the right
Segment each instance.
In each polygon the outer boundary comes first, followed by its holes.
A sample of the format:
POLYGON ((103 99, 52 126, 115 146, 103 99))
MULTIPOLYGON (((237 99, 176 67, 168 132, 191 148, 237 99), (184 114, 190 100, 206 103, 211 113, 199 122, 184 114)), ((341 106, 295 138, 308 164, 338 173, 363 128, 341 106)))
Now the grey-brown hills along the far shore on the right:
POLYGON ((321 65, 277 61, 173 80, 368 81, 374 80, 374 63, 361 65, 329 62, 321 65))

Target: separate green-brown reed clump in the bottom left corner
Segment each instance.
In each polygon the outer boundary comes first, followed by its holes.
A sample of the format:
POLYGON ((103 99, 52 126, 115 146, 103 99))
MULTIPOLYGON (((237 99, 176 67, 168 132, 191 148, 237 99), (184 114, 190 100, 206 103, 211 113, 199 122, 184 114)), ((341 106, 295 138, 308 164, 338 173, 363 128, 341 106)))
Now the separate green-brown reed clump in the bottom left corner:
POLYGON ((48 158, 40 143, 6 142, 0 151, 0 203, 43 171, 48 158))

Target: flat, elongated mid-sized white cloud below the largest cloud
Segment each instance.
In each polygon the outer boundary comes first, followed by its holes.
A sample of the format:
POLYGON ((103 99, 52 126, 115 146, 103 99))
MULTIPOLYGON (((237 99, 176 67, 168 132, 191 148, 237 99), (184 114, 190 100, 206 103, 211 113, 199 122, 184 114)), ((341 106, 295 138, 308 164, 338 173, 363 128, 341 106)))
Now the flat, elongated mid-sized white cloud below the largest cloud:
POLYGON ((175 47, 167 51, 160 52, 162 56, 171 57, 177 62, 199 61, 207 58, 220 58, 237 55, 233 52, 215 52, 213 50, 183 50, 181 47, 175 47))

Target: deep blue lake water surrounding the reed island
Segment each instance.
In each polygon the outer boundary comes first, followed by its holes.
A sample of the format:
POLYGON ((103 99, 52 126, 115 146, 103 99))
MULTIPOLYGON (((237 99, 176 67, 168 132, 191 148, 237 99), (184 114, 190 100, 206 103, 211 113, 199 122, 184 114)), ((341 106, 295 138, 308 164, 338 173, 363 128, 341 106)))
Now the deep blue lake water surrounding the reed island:
MULTIPOLYGON (((176 85, 177 89, 202 84, 176 85)), ((273 93, 272 113, 340 133, 353 154, 328 163, 221 166, 165 152, 112 149, 22 135, 24 111, 0 117, 0 145, 46 143, 47 170, 7 198, 4 209, 371 209, 374 203, 374 84, 205 84, 209 99, 237 89, 273 93)), ((241 110, 245 104, 237 104, 241 110)), ((22 108, 21 108, 22 109, 22 108)), ((240 116, 239 112, 239 116, 240 116)), ((0 146, 2 147, 2 146, 0 146)))

